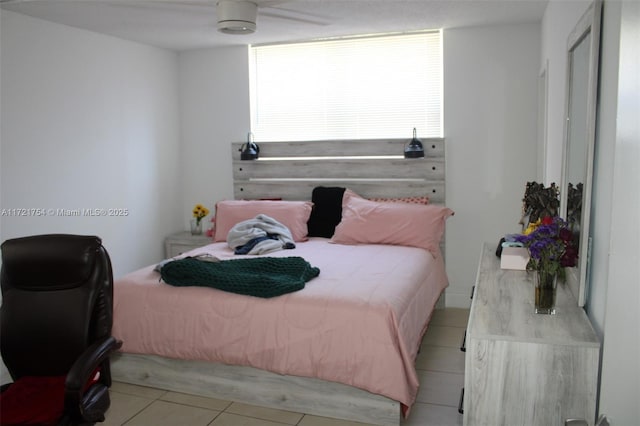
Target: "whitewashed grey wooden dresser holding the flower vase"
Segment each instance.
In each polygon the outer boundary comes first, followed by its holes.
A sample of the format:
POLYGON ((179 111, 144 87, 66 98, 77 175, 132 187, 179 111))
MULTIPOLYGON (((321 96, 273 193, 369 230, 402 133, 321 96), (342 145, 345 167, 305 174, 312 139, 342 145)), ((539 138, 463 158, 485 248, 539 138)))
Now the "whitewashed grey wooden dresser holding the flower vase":
POLYGON ((570 290, 534 313, 531 273, 500 269, 484 244, 466 337, 465 425, 564 425, 596 416, 600 342, 570 290))

